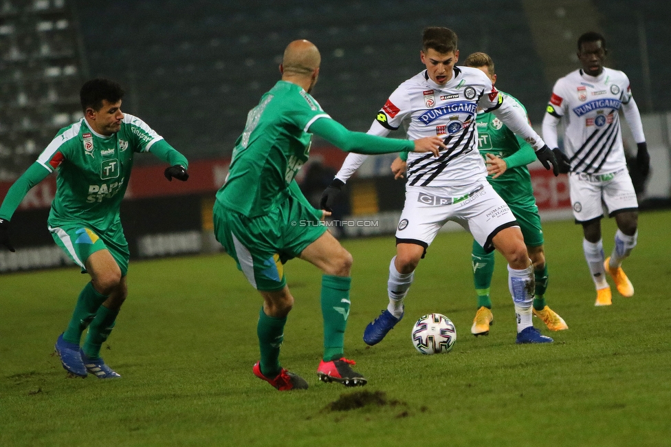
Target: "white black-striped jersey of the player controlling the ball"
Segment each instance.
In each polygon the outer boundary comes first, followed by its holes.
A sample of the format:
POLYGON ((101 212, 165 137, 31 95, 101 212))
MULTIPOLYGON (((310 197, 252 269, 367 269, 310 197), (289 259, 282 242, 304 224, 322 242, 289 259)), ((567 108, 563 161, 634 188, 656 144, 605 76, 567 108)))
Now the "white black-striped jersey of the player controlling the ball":
MULTIPOLYGON (((402 125, 408 140, 444 136, 448 149, 443 149, 439 157, 408 153, 406 187, 437 186, 447 188, 446 193, 461 195, 487 177, 477 147, 478 107, 494 111, 511 129, 521 131, 536 149, 543 145, 527 119, 505 104, 483 72, 471 67, 454 67, 452 79, 445 85, 434 83, 426 70, 406 80, 389 96, 368 133, 386 136, 402 125)), ((347 182, 366 157, 349 154, 336 177, 347 182)))

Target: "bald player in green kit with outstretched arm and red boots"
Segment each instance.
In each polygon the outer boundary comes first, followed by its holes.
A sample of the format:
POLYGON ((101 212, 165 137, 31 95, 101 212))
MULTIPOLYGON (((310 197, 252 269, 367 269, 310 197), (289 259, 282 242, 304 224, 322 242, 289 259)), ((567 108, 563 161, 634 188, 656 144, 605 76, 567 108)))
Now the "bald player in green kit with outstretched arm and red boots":
POLYGON ((320 380, 346 386, 366 384, 350 367, 343 340, 350 307, 352 257, 327 231, 317 210, 300 192, 294 177, 309 156, 316 133, 344 151, 392 153, 432 152, 444 145, 437 136, 414 142, 351 132, 332 120, 310 95, 321 57, 317 47, 300 40, 289 43, 280 65, 282 79, 261 97, 247 117, 235 144, 230 172, 217 192, 214 232, 239 270, 263 297, 256 333, 261 360, 254 374, 280 391, 307 389, 300 376, 281 367, 280 346, 294 297, 283 264, 298 257, 316 265, 322 276, 324 354, 320 380))

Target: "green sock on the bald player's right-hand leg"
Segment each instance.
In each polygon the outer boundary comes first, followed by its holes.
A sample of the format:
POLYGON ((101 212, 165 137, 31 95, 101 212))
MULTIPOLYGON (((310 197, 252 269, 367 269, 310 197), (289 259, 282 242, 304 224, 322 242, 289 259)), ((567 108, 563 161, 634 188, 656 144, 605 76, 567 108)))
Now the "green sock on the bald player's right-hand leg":
POLYGON ((344 336, 349 317, 349 287, 347 276, 322 275, 322 317, 324 318, 324 361, 337 360, 344 355, 344 336))

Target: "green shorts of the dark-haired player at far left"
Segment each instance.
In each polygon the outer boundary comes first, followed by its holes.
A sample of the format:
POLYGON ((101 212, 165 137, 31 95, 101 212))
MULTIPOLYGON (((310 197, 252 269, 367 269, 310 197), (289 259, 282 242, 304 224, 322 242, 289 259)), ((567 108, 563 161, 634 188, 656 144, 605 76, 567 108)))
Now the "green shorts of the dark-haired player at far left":
POLYGON ((121 276, 128 273, 130 252, 120 221, 104 233, 91 230, 81 222, 49 226, 49 231, 56 244, 82 268, 82 273, 86 273, 86 260, 98 250, 110 252, 121 269, 121 276))

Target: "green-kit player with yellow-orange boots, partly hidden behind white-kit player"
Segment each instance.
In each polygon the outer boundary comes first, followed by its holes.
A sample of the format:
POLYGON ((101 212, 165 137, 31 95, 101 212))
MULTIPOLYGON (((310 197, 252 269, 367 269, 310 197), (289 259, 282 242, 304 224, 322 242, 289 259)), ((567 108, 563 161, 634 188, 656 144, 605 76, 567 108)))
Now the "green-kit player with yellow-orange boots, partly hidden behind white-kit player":
MULTIPOLYGON (((492 85, 496 82, 494 62, 487 54, 473 53, 466 58, 464 65, 480 69, 492 80, 492 85)), ((527 115, 526 109, 516 98, 503 91, 501 94, 507 100, 512 100, 520 109, 520 113, 527 115)), ((487 180, 515 215, 524 236, 529 258, 533 263, 533 276, 536 281, 533 314, 541 318, 552 331, 569 329, 562 317, 545 304, 548 274, 543 251, 543 232, 538 206, 531 188, 531 175, 527 169, 527 164, 536 160, 533 148, 510 131, 492 113, 478 112, 476 125, 478 150, 485 157, 489 173, 487 180)), ((473 320, 471 333, 474 336, 487 335, 489 325, 494 321, 492 301, 489 299, 489 286, 494 273, 494 253, 485 252, 480 244, 473 241, 471 257, 475 290, 478 294, 478 312, 473 320)))

